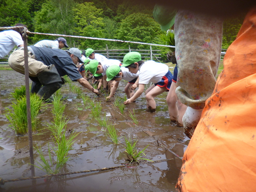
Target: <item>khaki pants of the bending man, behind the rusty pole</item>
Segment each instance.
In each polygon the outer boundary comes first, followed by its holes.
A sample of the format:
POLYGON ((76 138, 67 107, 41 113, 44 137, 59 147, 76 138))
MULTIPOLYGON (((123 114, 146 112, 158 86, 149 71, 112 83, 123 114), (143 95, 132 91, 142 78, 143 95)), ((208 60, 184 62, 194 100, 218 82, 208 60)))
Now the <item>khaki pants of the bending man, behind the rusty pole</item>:
MULTIPOLYGON (((31 52, 29 51, 29 76, 36 77, 38 73, 40 73, 48 66, 41 61, 35 60, 35 55, 31 55, 30 53, 31 52)), ((18 49, 14 51, 8 59, 8 64, 13 70, 17 71, 18 73, 25 74, 24 50, 18 49)))

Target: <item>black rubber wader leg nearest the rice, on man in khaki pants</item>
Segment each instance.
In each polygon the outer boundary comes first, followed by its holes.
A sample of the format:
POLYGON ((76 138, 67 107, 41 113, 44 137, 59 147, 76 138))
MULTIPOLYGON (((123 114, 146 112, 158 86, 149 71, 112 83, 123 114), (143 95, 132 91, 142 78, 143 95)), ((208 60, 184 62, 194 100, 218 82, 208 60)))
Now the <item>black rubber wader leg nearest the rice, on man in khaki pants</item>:
POLYGON ((38 90, 38 95, 43 97, 44 100, 49 99, 53 93, 61 88, 62 80, 61 76, 54 65, 50 65, 37 75, 40 83, 43 87, 38 90))

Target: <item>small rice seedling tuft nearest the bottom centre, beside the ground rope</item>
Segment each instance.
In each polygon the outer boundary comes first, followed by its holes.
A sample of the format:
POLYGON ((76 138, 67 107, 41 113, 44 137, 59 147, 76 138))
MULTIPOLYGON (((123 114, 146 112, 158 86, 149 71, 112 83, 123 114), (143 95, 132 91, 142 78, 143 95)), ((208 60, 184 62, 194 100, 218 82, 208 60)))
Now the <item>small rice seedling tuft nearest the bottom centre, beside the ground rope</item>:
MULTIPOLYGON (((132 143, 131 141, 131 138, 127 139, 125 137, 125 152, 131 156, 132 159, 129 159, 130 160, 130 164, 132 162, 137 162, 139 163, 139 160, 148 160, 148 159, 145 159, 145 158, 142 158, 144 154, 144 151, 145 149, 148 147, 148 145, 142 150, 142 151, 138 151, 137 150, 137 147, 136 147, 136 144, 137 144, 138 140, 134 141, 132 143)), ((145 155, 146 156, 146 155, 145 155)), ((152 161, 152 160, 148 160, 148 161, 152 161)))

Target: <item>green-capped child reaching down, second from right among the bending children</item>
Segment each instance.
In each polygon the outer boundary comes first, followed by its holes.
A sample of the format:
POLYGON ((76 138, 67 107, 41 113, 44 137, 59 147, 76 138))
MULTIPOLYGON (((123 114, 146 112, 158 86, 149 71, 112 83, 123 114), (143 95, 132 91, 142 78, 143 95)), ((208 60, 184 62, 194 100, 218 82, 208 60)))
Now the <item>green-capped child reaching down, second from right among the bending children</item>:
POLYGON ((134 90, 137 88, 139 83, 139 72, 136 74, 130 73, 129 70, 125 67, 119 67, 117 65, 112 65, 108 67, 106 71, 107 81, 114 81, 113 87, 111 87, 111 91, 109 96, 106 98, 109 100, 114 96, 116 89, 119 85, 119 82, 124 79, 128 81, 125 86, 125 93, 128 99, 130 99, 134 95, 134 90))

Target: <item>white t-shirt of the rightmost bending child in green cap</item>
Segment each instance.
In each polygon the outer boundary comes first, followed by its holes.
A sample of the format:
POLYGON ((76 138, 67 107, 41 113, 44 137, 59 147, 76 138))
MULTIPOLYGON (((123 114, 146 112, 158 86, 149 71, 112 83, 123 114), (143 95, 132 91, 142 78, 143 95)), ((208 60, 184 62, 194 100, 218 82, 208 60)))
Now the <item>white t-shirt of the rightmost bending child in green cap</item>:
POLYGON ((139 71, 139 84, 158 83, 169 71, 169 67, 166 64, 155 61, 145 61, 140 66, 139 71))

